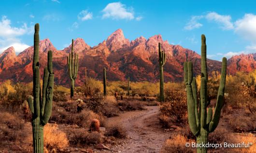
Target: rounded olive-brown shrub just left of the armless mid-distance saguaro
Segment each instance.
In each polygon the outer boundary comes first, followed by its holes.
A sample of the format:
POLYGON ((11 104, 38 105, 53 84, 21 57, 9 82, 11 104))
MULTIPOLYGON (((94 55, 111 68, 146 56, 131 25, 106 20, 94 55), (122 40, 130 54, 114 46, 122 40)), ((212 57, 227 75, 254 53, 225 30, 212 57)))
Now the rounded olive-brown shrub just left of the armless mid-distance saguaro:
POLYGON ((91 97, 100 91, 102 91, 102 83, 91 77, 85 79, 85 83, 82 85, 81 89, 85 97, 91 97))

